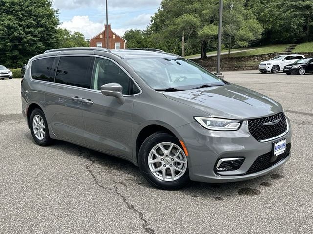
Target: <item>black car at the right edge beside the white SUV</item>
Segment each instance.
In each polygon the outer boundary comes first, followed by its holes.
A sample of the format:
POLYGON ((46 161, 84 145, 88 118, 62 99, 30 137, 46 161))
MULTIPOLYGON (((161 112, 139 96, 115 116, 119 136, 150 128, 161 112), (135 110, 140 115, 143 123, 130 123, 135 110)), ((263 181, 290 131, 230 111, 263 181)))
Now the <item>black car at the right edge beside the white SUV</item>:
POLYGON ((284 67, 284 73, 287 75, 292 73, 304 75, 310 72, 313 72, 313 58, 299 59, 284 67))

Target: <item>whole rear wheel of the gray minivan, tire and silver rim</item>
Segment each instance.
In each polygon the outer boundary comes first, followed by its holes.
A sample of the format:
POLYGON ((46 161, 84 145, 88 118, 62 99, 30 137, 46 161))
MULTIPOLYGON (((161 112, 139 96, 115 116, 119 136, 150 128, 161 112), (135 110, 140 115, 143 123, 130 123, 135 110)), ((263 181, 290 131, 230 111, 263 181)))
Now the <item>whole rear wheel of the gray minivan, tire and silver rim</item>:
POLYGON ((30 114, 29 126, 31 135, 38 145, 46 146, 52 143, 52 139, 49 135, 48 123, 42 110, 33 110, 30 114))

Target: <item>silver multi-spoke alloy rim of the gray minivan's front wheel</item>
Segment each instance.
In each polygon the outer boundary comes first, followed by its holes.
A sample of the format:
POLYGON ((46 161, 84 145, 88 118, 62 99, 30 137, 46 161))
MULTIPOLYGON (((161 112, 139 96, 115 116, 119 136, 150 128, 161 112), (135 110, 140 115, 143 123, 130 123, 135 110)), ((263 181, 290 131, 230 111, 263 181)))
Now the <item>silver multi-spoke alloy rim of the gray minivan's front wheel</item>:
POLYGON ((187 170, 187 157, 176 144, 163 142, 154 146, 148 156, 149 169, 163 181, 179 179, 187 170))

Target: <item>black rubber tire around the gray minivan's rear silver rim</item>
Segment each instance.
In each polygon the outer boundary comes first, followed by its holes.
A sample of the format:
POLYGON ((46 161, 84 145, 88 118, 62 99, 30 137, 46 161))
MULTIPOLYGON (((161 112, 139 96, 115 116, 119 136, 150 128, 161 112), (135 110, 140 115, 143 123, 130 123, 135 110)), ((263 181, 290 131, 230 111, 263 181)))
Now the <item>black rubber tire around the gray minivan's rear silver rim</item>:
POLYGON ((47 123, 47 120, 45 118, 45 114, 42 110, 36 108, 32 111, 32 113, 30 114, 30 117, 29 117, 29 126, 30 126, 30 132, 31 132, 31 136, 33 137, 34 141, 40 145, 40 146, 47 146, 47 145, 50 145, 53 140, 50 138, 50 135, 49 135, 49 128, 48 128, 48 123, 47 123), (34 129, 33 129, 33 119, 34 117, 38 115, 40 116, 43 121, 44 121, 44 129, 45 129, 45 136, 43 139, 38 139, 36 136, 35 136, 35 133, 34 133, 34 129))

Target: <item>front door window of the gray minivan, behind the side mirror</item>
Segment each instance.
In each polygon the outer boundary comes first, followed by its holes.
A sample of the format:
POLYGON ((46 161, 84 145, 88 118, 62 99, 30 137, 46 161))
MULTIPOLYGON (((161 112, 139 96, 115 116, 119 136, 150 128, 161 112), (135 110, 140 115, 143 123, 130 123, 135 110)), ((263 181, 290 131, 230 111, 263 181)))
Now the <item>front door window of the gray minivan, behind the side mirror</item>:
POLYGON ((107 59, 96 58, 93 68, 92 89, 100 90, 101 86, 109 83, 119 83, 123 94, 139 93, 133 80, 115 63, 107 59))

